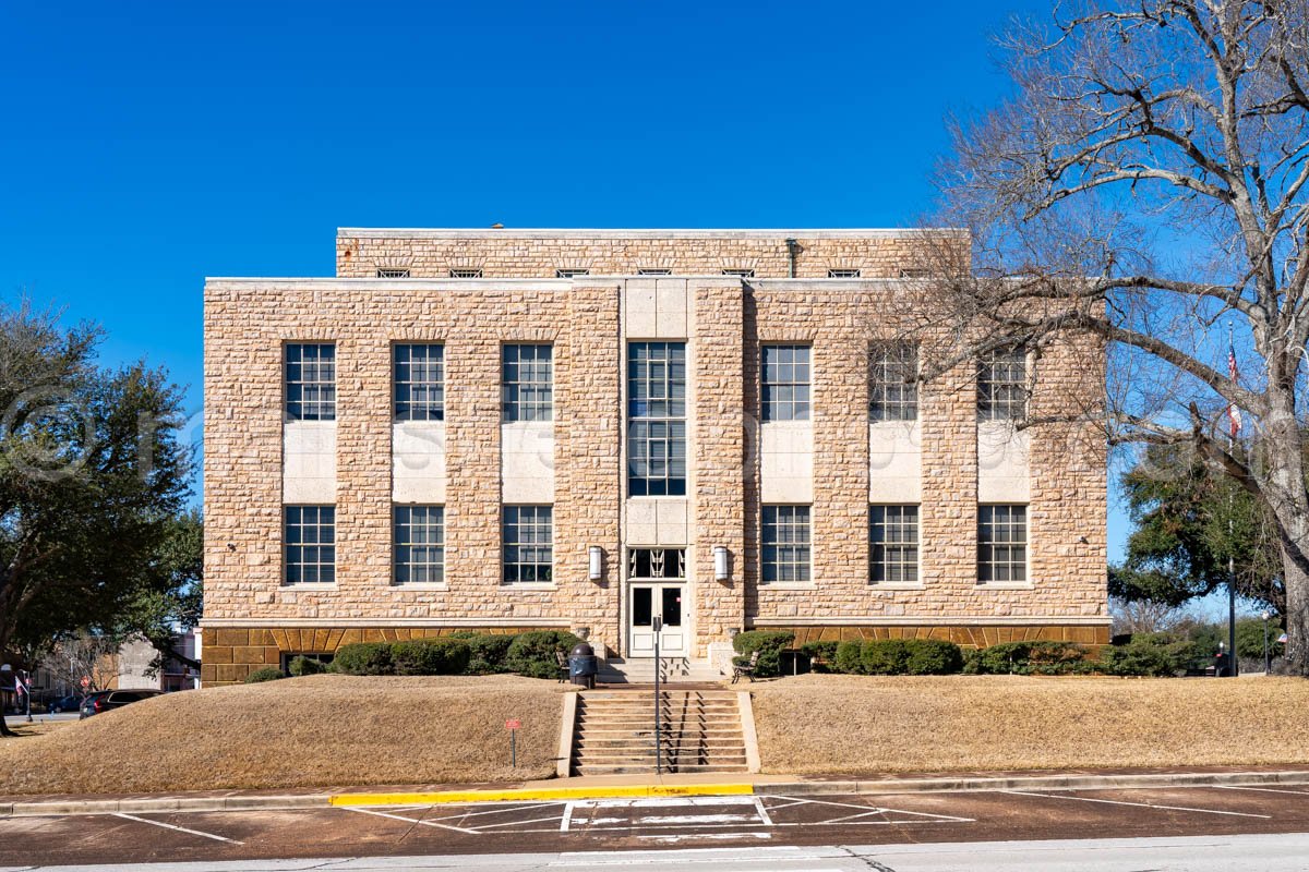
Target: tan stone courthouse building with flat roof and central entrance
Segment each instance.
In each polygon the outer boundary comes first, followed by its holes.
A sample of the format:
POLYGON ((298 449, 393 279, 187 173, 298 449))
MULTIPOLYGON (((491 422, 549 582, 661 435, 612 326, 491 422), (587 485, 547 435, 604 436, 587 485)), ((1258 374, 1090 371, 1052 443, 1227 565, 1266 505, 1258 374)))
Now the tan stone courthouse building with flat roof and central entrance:
POLYGON ((1097 367, 916 384, 916 239, 342 229, 334 278, 209 278, 204 681, 466 629, 1107 642, 1103 448, 1013 426, 1097 367))

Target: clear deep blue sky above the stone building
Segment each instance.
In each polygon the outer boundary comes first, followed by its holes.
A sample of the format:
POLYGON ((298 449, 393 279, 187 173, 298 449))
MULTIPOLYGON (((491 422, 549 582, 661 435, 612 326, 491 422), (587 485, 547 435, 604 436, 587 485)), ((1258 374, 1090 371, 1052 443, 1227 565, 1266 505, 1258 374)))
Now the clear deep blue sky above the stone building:
POLYGON ((0 294, 198 409, 203 277, 331 275, 338 226, 914 224, 1049 5, 0 0, 0 294))

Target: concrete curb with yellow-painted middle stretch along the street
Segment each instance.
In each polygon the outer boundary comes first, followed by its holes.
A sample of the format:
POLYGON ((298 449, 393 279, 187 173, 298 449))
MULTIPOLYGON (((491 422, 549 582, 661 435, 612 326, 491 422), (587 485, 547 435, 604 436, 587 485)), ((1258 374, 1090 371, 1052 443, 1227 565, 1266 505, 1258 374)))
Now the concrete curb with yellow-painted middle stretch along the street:
MULTIPOLYGON (((563 779, 560 779, 563 780, 563 779)), ((1092 790, 1131 787, 1257 787, 1309 784, 1309 771, 1268 773, 1158 773, 1122 775, 1013 775, 1000 778, 901 778, 878 780, 742 782, 724 784, 600 784, 511 790, 435 791, 412 794, 300 794, 289 796, 182 796, 158 799, 62 800, 0 803, 0 818, 63 814, 117 814, 169 812, 304 811, 334 805, 421 805, 550 799, 602 799, 652 796, 725 796, 741 794, 927 794, 988 790, 1092 790)))

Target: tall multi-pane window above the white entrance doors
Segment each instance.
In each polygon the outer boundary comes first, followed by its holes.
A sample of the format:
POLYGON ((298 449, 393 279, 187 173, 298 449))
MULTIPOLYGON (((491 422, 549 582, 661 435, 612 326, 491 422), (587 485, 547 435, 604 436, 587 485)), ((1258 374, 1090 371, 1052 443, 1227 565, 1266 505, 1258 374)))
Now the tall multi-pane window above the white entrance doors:
POLYGON ((686 344, 627 344, 627 492, 686 494, 686 344))

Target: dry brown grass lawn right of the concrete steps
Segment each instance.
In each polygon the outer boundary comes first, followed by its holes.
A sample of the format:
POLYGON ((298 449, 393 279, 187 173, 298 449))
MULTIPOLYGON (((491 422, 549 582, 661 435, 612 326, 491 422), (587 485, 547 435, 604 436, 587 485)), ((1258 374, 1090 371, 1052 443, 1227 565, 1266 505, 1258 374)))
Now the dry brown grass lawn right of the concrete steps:
POLYGON ((1300 679, 809 675, 751 690, 766 773, 1309 762, 1300 679))

